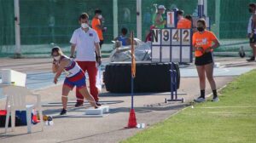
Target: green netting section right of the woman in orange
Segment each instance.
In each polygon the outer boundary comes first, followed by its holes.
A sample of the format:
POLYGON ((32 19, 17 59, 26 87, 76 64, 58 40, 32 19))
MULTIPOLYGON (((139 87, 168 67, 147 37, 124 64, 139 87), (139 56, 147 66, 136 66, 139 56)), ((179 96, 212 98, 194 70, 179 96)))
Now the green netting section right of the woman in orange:
POLYGON ((222 55, 238 55, 238 50, 243 47, 247 54, 251 54, 247 23, 250 17, 248 4, 253 0, 219 0, 219 4, 217 0, 207 0, 207 3, 212 31, 221 42, 221 47, 215 51, 222 55))

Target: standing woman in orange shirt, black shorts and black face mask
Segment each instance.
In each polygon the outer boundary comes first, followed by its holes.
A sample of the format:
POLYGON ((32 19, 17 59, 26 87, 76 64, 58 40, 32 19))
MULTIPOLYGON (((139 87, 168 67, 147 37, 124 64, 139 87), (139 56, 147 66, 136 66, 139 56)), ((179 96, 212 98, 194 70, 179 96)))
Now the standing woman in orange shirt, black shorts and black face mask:
POLYGON ((197 20, 197 30, 192 37, 192 45, 195 49, 195 66, 199 76, 201 96, 195 99, 195 102, 205 101, 206 74, 208 82, 211 85, 213 98, 212 101, 218 101, 216 83, 213 78, 214 61, 212 58, 213 49, 218 48, 218 38, 212 31, 206 30, 207 25, 204 19, 197 20), (213 44, 212 44, 213 43, 213 44))

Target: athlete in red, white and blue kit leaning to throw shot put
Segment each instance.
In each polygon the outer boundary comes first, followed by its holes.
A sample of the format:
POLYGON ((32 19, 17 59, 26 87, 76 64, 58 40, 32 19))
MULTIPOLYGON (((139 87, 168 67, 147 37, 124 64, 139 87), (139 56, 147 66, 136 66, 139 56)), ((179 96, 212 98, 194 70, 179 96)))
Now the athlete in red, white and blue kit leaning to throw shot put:
POLYGON ((58 78, 61 76, 61 72, 66 72, 66 78, 62 86, 61 96, 63 109, 60 114, 67 114, 67 95, 74 86, 76 86, 79 90, 79 93, 83 94, 84 98, 90 102, 91 106, 97 108, 96 101, 89 94, 86 88, 84 72, 82 72, 79 65, 73 59, 70 59, 65 54, 63 54, 59 47, 54 47, 51 50, 51 56, 54 58, 52 72, 55 73, 55 84, 58 82, 58 78))

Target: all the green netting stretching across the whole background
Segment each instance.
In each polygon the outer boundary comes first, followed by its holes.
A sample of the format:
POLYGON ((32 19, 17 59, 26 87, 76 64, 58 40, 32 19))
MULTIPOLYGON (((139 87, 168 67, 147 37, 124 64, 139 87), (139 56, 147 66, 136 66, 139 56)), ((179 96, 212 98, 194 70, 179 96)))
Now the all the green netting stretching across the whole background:
MULTIPOLYGON (((218 35, 223 46, 221 52, 237 51, 240 46, 248 48, 247 12, 253 0, 207 0, 207 15, 211 29, 218 35), (219 21, 219 23, 218 23, 219 21)), ((137 1, 118 0, 118 29, 127 27, 137 33, 137 1)), ((152 24, 154 4, 163 4, 166 9, 177 7, 185 14, 197 14, 198 0, 142 0, 143 39, 152 24)), ((55 43, 69 51, 69 40, 74 29, 79 27, 78 16, 82 12, 94 15, 102 9, 105 43, 113 39, 113 0, 20 0, 20 41, 22 54, 49 54, 55 43)), ((15 52, 14 0, 0 0, 0 56, 15 52)))

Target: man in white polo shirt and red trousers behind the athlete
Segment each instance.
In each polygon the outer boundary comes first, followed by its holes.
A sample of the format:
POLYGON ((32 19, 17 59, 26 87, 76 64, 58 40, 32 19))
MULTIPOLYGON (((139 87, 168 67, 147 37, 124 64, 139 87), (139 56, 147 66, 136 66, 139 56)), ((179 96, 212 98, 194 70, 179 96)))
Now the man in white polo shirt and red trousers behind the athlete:
MULTIPOLYGON (((102 64, 102 56, 100 51, 100 39, 95 30, 89 26, 89 16, 82 13, 79 16, 79 24, 81 27, 73 31, 71 37, 71 58, 74 57, 76 50, 75 60, 85 72, 88 72, 90 81, 90 94, 96 100, 97 106, 101 106, 98 98, 98 89, 96 88, 96 62, 98 65, 102 64)), ((83 106, 84 96, 76 90, 77 103, 75 106, 83 106)))

